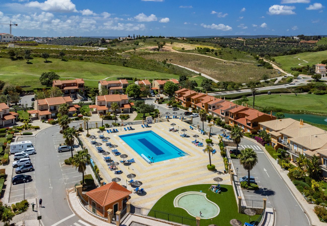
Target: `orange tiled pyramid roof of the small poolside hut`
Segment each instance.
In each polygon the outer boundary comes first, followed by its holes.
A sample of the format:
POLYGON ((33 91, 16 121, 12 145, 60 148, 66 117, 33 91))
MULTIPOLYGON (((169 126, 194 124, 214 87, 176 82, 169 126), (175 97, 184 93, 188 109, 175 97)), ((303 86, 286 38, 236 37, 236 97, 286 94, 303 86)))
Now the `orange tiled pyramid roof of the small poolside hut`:
POLYGON ((127 190, 125 187, 117 184, 116 182, 111 182, 107 185, 100 186, 86 192, 86 195, 88 195, 99 205, 106 206, 128 197, 131 193, 131 191, 127 190))

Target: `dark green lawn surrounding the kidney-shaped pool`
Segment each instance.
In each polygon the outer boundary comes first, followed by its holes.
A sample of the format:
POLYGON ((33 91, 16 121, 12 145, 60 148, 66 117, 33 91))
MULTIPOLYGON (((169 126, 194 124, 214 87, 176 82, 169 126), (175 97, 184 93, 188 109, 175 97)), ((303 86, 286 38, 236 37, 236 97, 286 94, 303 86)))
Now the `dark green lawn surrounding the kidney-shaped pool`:
MULTIPOLYGON (((177 195, 187 192, 187 191, 203 191, 207 194, 207 199, 216 203, 219 208, 220 212, 219 215, 215 218, 211 219, 201 219, 200 225, 201 226, 207 226, 209 224, 216 224, 219 226, 228 226, 230 225, 231 219, 238 219, 242 223, 249 222, 249 216, 245 214, 239 214, 237 212, 237 203, 234 196, 234 191, 231 185, 221 185, 221 193, 215 194, 208 188, 211 186, 211 184, 203 184, 203 185, 191 185, 191 186, 185 186, 180 187, 175 190, 172 190, 171 192, 168 192, 165 194, 161 199, 156 202, 156 204, 152 207, 151 210, 159 210, 179 216, 194 218, 191 215, 189 215, 184 209, 179 207, 174 207, 174 199, 177 195)), ((197 205, 197 203, 190 203, 197 205)), ((202 211, 203 212, 203 211, 202 211)), ((150 212, 151 214, 151 212, 150 212)), ((255 215, 251 217, 252 220, 256 220, 259 217, 259 215, 255 215)))

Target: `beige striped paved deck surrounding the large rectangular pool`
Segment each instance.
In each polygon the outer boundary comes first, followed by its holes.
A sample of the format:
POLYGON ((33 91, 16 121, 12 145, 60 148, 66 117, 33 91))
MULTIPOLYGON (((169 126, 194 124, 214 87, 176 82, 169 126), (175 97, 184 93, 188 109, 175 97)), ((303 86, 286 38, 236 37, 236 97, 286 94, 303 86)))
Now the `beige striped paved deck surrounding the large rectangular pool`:
MULTIPOLYGON (((149 124, 149 128, 142 128, 141 125, 133 125, 132 131, 123 131, 120 130, 120 127, 116 127, 119 132, 108 134, 104 131, 105 137, 110 137, 109 142, 112 144, 118 145, 116 148, 120 153, 127 154, 128 158, 134 158, 136 163, 132 163, 130 166, 125 166, 119 164, 117 167, 119 170, 122 170, 121 174, 114 174, 113 171, 108 169, 107 163, 103 160, 102 153, 97 153, 94 145, 90 144, 90 139, 85 137, 86 131, 82 133, 82 140, 86 148, 88 148, 89 153, 94 159, 95 163, 98 165, 101 174, 103 175, 104 181, 111 182, 112 178, 118 177, 121 179, 119 184, 126 186, 126 176, 130 173, 136 174, 136 177, 133 180, 138 180, 143 183, 140 188, 144 188, 145 192, 143 194, 131 194, 130 202, 133 205, 140 205, 143 207, 151 208, 164 194, 172 191, 178 187, 194 185, 194 184, 216 184, 213 180, 214 177, 221 177, 223 181, 221 184, 230 184, 230 175, 224 174, 224 164, 222 157, 220 156, 219 146, 218 146, 218 137, 217 135, 212 137, 213 143, 215 146, 214 149, 217 150, 217 153, 211 156, 212 164, 215 165, 217 171, 211 172, 207 169, 209 164, 208 153, 203 153, 202 149, 204 147, 196 147, 191 143, 195 138, 193 135, 199 135, 198 139, 202 142, 202 138, 208 138, 208 136, 201 135, 197 130, 190 130, 189 125, 180 120, 171 119, 169 122, 159 122, 154 124, 149 124), (168 129, 172 127, 170 124, 174 122, 176 129, 187 129, 185 132, 190 137, 180 137, 179 135, 183 132, 169 132, 168 129), (132 150, 118 135, 124 135, 129 133, 143 132, 147 130, 152 130, 161 137, 165 138, 181 150, 190 155, 183 157, 170 159, 162 162, 148 164, 139 154, 132 150)), ((122 127, 123 129, 123 127, 122 127)), ((98 137, 98 129, 89 130, 91 135, 98 137)), ((99 142, 101 140, 97 138, 99 142)), ((102 143, 102 142, 101 142, 102 143)), ((102 145, 105 151, 110 149, 102 145)), ((111 152, 109 155, 112 160, 119 162, 122 158, 114 156, 111 152)), ((128 179, 130 180, 130 179, 128 179)), ((127 189, 133 191, 135 187, 127 186, 127 189)))

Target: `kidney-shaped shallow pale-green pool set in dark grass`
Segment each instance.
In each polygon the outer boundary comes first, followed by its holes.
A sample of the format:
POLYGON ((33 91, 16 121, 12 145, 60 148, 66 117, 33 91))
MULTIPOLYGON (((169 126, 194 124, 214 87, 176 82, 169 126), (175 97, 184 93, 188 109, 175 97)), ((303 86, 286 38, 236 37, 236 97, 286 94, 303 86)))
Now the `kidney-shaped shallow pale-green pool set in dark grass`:
POLYGON ((174 206, 183 208, 193 217, 200 217, 202 219, 214 218, 220 211, 219 206, 208 200, 205 193, 197 191, 179 194, 174 199, 174 206))

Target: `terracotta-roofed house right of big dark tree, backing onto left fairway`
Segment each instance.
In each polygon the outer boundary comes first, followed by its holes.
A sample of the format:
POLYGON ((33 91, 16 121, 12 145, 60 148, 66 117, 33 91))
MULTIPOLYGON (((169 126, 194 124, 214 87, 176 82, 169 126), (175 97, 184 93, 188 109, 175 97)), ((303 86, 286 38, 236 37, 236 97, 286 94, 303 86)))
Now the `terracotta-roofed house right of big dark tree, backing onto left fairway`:
POLYGON ((84 95, 84 80, 77 78, 73 80, 53 80, 52 87, 58 87, 64 96, 77 98, 77 93, 84 95))

